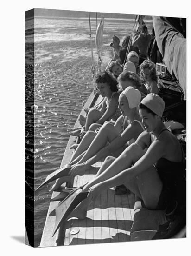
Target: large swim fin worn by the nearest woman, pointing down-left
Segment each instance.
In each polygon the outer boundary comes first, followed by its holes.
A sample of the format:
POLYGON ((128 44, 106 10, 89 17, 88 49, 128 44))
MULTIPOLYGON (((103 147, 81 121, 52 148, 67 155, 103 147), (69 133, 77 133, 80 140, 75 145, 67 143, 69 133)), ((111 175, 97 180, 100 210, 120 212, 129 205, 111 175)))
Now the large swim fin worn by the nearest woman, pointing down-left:
MULTIPOLYGON (((85 186, 85 185, 83 185, 85 186)), ((60 202, 57 206, 56 210, 56 222, 53 231, 53 235, 57 232, 57 229, 61 226, 61 224, 66 220, 66 218, 70 215, 73 209, 82 202, 88 195, 88 192, 84 192, 82 187, 74 189, 62 202, 60 202)))

